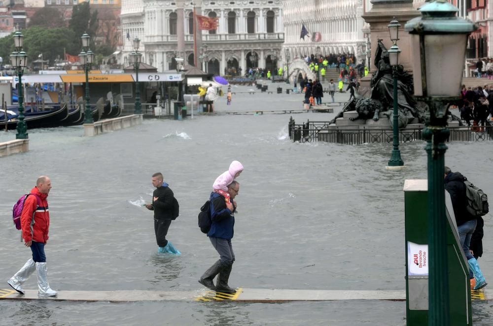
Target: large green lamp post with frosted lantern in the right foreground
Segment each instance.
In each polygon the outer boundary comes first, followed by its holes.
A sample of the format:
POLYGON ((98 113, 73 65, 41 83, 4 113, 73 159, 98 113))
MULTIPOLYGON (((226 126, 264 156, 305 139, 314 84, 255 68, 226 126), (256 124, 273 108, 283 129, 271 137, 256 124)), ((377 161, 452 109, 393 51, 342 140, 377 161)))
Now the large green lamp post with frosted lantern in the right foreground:
POLYGON ((446 0, 426 2, 420 11, 422 16, 410 20, 405 30, 411 34, 415 95, 428 105, 423 130, 427 141, 430 203, 428 325, 442 326, 450 325, 443 184, 445 140, 450 134, 447 111, 450 104, 459 99, 467 39, 477 26, 458 18, 458 8, 446 0))

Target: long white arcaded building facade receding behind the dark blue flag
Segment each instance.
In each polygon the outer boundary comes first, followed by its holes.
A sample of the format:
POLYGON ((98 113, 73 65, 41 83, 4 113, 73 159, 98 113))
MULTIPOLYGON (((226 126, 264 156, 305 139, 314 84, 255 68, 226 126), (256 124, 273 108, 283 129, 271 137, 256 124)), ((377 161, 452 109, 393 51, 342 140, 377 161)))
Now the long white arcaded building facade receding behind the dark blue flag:
POLYGON ((284 49, 291 59, 364 50, 362 0, 284 0, 284 49), (305 25, 310 36, 301 39, 305 25), (315 36, 317 33, 318 37, 315 36))

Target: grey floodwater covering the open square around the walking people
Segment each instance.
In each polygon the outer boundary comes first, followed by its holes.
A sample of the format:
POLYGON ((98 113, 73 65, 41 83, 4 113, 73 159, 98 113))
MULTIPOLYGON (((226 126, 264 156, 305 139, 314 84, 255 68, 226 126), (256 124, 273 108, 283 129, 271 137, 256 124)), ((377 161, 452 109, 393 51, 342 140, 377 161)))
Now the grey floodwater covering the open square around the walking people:
MULTIPOLYGON (((282 85, 284 88, 284 85, 282 85)), ((248 89, 248 87, 238 88, 248 89)), ((341 100, 349 97, 341 94, 341 100)), ((302 95, 233 95, 217 110, 300 108, 302 95)), ((337 111, 337 110, 336 110, 337 111)), ((336 112, 337 113, 337 112, 336 112)), ((297 122, 335 114, 295 114, 297 122)), ((265 289, 402 290, 405 179, 426 178, 420 142, 401 145, 406 169, 387 172, 390 145, 292 143, 289 115, 145 120, 105 135, 81 127, 30 130, 28 153, 0 158, 0 279, 31 251, 19 241, 11 206, 41 175, 51 177, 50 285, 56 290, 201 290, 216 259, 197 227, 212 182, 232 160, 245 171, 237 197, 230 285, 265 289), (162 172, 180 202, 168 238, 180 257, 156 253, 151 175, 162 172)), ((0 142, 15 138, 0 133, 0 142)), ((451 143, 446 164, 493 193, 493 143, 451 143)), ((480 265, 493 282, 492 221, 485 218, 480 265)), ((0 287, 8 287, 6 283, 0 287)), ((493 284, 493 283, 492 283, 493 284)), ((35 289, 35 276, 26 283, 35 289)), ((492 325, 488 301, 474 325, 492 325)), ((83 303, 0 300, 0 325, 405 325, 405 302, 325 301, 83 303)))

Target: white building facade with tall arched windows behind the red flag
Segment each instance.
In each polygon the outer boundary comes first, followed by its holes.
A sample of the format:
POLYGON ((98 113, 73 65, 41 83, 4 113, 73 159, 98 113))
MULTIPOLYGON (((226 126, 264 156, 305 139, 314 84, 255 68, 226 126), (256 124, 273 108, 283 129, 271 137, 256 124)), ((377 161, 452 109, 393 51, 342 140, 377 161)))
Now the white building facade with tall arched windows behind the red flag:
MULTIPOLYGON (((165 71, 176 68, 177 1, 122 0, 121 60, 128 65, 134 37, 141 39, 143 61, 165 71)), ((197 15, 217 17, 217 30, 197 30, 202 45, 207 44, 208 71, 224 75, 228 71, 245 74, 250 67, 273 69, 281 58, 284 42, 282 0, 195 1, 197 15), (228 69, 230 68, 230 69, 228 69), (234 69, 232 69, 234 68, 234 69)), ((185 1, 183 10, 185 61, 193 65, 193 5, 185 1)), ((197 56, 200 55, 197 49, 197 56)), ((180 55, 181 56, 181 55, 180 55)), ((198 66, 202 64, 198 61, 198 66)), ((203 66, 205 68, 205 64, 203 66)))

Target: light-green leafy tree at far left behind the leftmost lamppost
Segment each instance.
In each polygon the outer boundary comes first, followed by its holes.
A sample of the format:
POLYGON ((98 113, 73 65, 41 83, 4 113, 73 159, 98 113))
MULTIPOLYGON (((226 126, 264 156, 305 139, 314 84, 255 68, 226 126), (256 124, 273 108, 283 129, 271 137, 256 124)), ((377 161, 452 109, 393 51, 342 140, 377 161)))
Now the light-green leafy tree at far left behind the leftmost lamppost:
MULTIPOLYGON (((44 60, 54 62, 64 58, 64 51, 68 54, 77 54, 80 51, 79 38, 67 28, 47 29, 44 27, 30 27, 22 30, 24 35, 24 51, 28 54, 28 64, 43 54, 44 60)), ((0 56, 6 62, 14 51, 13 33, 0 39, 0 56), (8 59, 7 59, 8 58, 8 59)))

